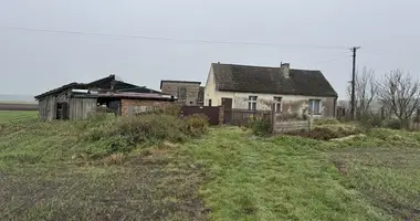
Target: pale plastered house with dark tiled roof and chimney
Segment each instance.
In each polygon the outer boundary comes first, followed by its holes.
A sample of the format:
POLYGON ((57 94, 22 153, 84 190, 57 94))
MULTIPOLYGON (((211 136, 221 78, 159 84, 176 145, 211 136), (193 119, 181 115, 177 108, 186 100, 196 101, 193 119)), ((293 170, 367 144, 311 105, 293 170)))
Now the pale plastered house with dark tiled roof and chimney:
POLYGON ((334 117, 337 93, 321 71, 212 63, 204 105, 334 117))

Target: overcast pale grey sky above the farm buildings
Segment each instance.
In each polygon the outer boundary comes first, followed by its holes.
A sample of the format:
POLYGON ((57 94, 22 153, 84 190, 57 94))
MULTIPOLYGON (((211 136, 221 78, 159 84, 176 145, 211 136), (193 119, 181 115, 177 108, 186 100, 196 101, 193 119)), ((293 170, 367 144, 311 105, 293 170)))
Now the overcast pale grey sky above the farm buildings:
POLYGON ((174 39, 316 44, 180 43, 0 28, 0 94, 39 94, 116 74, 159 88, 160 80, 203 84, 211 62, 323 71, 340 96, 358 67, 420 75, 420 3, 414 0, 0 0, 0 27, 174 39))

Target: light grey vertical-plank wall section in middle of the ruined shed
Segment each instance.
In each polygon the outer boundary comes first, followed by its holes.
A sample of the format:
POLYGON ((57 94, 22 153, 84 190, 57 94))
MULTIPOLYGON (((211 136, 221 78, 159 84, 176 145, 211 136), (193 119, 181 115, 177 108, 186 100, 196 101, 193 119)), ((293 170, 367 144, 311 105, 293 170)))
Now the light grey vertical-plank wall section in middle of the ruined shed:
POLYGON ((90 114, 95 113, 97 107, 96 98, 70 98, 69 118, 85 119, 90 114))

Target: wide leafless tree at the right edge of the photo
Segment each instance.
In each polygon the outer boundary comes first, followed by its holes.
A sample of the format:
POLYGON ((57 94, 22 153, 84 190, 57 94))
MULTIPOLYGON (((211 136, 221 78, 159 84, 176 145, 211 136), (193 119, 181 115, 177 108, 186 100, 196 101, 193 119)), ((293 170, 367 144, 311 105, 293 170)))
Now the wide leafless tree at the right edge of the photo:
POLYGON ((407 127, 420 105, 420 82, 409 73, 396 70, 387 73, 378 84, 379 101, 407 127))

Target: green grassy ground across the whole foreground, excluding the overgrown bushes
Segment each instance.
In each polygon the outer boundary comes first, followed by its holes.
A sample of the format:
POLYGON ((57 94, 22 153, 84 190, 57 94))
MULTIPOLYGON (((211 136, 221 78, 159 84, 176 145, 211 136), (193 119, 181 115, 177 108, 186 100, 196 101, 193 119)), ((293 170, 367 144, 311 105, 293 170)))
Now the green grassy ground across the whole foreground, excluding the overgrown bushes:
POLYGON ((217 127, 92 158, 104 144, 81 124, 0 126, 1 220, 420 220, 420 133, 318 141, 217 127))

